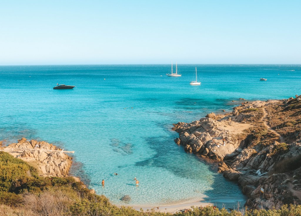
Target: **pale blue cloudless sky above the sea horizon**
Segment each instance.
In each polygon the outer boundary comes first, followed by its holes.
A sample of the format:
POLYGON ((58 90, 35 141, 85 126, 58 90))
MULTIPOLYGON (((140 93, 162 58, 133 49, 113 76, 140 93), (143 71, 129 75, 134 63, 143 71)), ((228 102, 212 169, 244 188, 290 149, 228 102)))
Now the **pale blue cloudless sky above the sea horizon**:
POLYGON ((300 11, 300 0, 0 0, 0 65, 301 63, 300 11))

